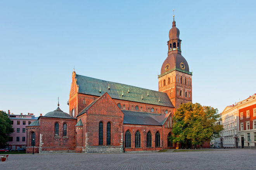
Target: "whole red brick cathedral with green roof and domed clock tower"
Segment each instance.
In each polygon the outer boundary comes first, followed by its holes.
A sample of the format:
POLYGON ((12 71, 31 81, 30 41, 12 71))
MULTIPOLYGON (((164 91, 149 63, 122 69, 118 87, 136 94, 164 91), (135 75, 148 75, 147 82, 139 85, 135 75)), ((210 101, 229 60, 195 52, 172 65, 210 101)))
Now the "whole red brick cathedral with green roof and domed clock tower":
POLYGON ((180 31, 169 32, 159 91, 81 76, 74 71, 69 114, 58 108, 26 127, 27 153, 120 153, 175 147, 168 137, 175 108, 192 101, 192 73, 180 31))

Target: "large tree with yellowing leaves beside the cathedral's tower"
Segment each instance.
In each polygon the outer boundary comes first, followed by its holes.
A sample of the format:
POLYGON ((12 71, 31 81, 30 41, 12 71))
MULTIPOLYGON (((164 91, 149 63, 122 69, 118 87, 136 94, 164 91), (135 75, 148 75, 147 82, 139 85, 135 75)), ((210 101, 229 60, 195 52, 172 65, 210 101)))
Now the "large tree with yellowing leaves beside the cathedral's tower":
POLYGON ((203 144, 220 137, 223 125, 218 124, 218 110, 199 103, 180 105, 173 117, 173 135, 170 140, 182 144, 203 144))

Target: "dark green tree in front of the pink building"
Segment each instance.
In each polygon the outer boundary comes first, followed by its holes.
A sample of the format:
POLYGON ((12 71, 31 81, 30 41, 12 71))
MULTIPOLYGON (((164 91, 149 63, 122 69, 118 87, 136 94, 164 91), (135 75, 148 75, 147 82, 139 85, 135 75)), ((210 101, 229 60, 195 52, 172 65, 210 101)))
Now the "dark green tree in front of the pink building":
POLYGON ((7 113, 0 111, 0 146, 4 147, 7 144, 8 137, 14 132, 12 121, 7 113))

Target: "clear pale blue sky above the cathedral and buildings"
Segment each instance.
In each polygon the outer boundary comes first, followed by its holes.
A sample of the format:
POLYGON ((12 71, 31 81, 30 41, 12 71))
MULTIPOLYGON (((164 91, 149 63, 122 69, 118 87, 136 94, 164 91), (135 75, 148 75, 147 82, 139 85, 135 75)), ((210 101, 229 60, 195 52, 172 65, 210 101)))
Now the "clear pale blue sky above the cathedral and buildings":
POLYGON ((255 90, 256 1, 1 1, 0 110, 68 112, 76 73, 158 90, 175 9, 192 101, 218 108, 255 90))

